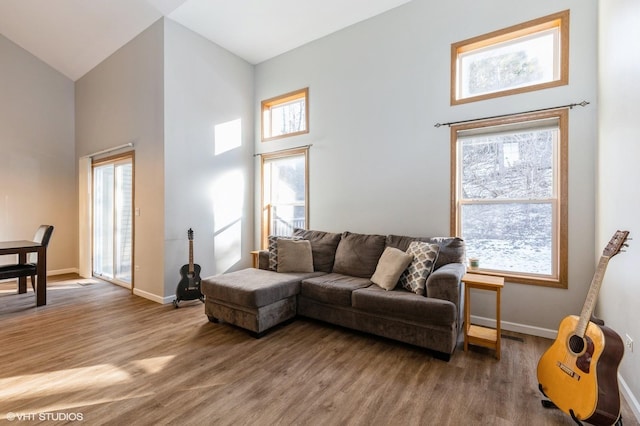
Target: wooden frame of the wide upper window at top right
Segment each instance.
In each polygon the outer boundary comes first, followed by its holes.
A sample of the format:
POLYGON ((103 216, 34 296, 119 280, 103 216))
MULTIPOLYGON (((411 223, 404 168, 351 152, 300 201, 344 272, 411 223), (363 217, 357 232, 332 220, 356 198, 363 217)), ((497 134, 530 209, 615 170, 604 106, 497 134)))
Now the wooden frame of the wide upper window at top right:
POLYGON ((502 96, 514 95, 517 93, 531 92, 535 90, 547 89, 549 87, 563 86, 569 84, 569 10, 564 10, 528 22, 517 24, 508 28, 493 31, 467 40, 451 44, 451 105, 459 105, 468 102, 476 102, 485 99, 492 99, 502 96), (558 28, 560 49, 554 52, 559 55, 559 76, 557 80, 536 83, 528 86, 512 89, 499 90, 492 93, 485 93, 477 96, 465 98, 458 97, 459 76, 459 55, 474 50, 486 49, 490 46, 497 46, 501 43, 514 41, 516 39, 531 36, 536 33, 558 28))

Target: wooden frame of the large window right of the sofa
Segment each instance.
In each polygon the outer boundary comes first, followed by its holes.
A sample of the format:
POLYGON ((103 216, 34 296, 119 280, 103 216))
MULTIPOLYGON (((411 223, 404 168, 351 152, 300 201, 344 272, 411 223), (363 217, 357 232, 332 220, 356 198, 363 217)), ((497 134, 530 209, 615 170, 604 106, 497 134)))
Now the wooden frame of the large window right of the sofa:
POLYGON ((520 284, 532 284, 546 287, 567 288, 568 285, 568 140, 569 140, 569 110, 567 108, 517 114, 509 117, 479 120, 451 126, 451 235, 461 235, 461 197, 460 197, 460 169, 459 169, 459 141, 458 132, 470 129, 481 129, 501 125, 526 123, 537 120, 556 118, 558 120, 558 147, 555 167, 556 175, 556 214, 554 215, 554 262, 557 262, 557 270, 550 276, 538 274, 516 273, 509 271, 497 271, 483 269, 482 264, 474 273, 499 275, 506 281, 520 284))

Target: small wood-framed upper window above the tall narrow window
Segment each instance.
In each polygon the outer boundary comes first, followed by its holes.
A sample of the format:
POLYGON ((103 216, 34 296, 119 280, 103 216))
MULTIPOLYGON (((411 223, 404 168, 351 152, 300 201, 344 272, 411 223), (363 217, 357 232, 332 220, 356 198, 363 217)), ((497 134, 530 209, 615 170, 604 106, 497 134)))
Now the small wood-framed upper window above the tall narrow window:
POLYGON ((309 133, 309 89, 262 101, 262 141, 309 133))

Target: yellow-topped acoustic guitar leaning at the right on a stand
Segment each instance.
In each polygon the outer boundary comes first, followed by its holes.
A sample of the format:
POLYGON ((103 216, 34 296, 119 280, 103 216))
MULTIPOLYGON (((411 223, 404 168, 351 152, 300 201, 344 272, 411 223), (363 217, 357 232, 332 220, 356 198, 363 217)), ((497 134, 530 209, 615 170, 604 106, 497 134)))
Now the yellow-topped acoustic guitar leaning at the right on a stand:
POLYGON ((611 238, 580 317, 570 315, 560 322, 556 340, 538 362, 540 390, 578 424, 621 423, 618 367, 624 345, 615 331, 591 318, 607 264, 627 246, 628 235, 628 231, 617 231, 611 238))

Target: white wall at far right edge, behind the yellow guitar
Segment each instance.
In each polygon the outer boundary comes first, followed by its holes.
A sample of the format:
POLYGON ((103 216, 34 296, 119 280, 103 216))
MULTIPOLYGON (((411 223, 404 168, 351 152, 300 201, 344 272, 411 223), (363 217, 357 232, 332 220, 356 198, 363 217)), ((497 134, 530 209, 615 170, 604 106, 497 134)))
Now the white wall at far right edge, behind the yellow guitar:
POLYGON ((618 229, 630 231, 634 240, 609 262, 597 310, 623 340, 626 334, 634 340, 620 374, 626 391, 635 395, 632 406, 640 419, 640 3, 599 5, 597 255, 618 229))

